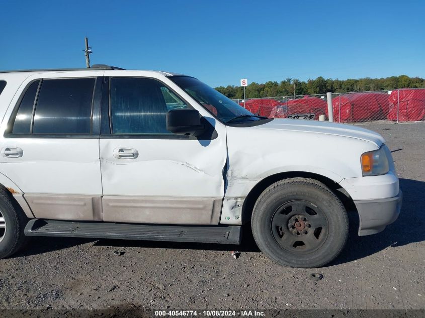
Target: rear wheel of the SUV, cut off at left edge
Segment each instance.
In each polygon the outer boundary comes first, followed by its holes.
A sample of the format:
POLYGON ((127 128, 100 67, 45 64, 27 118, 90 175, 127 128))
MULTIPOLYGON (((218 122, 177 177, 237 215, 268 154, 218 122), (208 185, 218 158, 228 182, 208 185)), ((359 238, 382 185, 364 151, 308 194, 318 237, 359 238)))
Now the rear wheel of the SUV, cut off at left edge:
POLYGON ((28 218, 12 195, 0 189, 0 259, 11 256, 25 245, 27 222, 28 218))

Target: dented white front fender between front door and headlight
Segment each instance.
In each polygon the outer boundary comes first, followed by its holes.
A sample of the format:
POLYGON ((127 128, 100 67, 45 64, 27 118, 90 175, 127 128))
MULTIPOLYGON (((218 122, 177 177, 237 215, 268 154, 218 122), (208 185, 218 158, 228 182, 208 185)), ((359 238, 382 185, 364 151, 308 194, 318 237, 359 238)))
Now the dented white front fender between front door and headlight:
POLYGON ((378 147, 338 135, 227 128, 225 197, 243 197, 261 180, 283 172, 315 173, 339 183, 362 176, 360 157, 378 147))

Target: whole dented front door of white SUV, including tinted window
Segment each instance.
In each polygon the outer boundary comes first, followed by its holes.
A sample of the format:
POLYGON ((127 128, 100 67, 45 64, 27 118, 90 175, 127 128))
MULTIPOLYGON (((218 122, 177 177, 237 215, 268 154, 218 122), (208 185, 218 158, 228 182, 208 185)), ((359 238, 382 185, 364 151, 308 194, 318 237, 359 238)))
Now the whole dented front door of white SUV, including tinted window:
POLYGON ((167 111, 190 106, 161 81, 111 77, 105 86, 110 121, 109 134, 100 139, 104 221, 218 224, 225 127, 215 127, 210 140, 172 134, 167 111))

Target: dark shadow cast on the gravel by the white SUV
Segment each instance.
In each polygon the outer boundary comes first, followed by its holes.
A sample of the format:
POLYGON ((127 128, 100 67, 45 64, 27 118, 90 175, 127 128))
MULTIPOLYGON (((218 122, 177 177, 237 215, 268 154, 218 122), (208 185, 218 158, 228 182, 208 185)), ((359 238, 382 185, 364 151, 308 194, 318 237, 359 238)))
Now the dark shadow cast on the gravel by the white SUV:
MULTIPOLYGON (((343 253, 330 265, 338 265, 362 259, 390 246, 397 247, 425 241, 425 232, 422 230, 424 225, 423 194, 425 193, 425 182, 411 179, 400 179, 400 187, 403 191, 403 204, 399 218, 379 234, 359 237, 357 235, 359 227, 358 217, 356 213, 351 213, 350 236, 347 246, 343 253)), ((260 252, 252 238, 252 235, 250 234, 249 229, 244 229, 243 232, 243 242, 241 245, 38 237, 32 238, 29 246, 13 257, 47 253, 90 242, 93 242, 94 246, 113 246, 121 248, 140 247, 158 249, 193 249, 211 251, 236 250, 240 252, 260 252)))

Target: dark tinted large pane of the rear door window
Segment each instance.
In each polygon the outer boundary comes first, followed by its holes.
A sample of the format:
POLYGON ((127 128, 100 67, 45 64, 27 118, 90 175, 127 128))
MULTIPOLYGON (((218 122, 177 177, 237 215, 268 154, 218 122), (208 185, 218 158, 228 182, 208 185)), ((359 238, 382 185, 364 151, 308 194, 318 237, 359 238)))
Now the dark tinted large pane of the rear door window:
POLYGON ((90 134, 94 78, 43 80, 33 134, 90 134))

